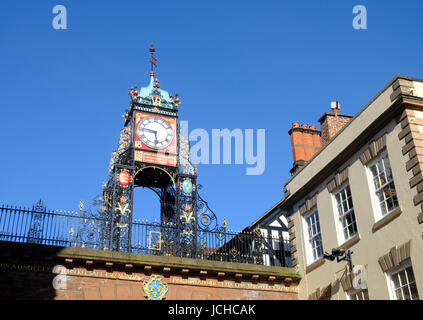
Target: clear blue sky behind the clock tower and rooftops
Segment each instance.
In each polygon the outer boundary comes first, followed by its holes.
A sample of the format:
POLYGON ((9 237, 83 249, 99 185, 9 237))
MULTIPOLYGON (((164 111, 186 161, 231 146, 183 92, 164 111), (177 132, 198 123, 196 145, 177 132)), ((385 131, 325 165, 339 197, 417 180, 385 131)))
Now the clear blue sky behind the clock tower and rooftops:
MULTIPOLYGON (((417 0, 3 0, 0 203, 76 210, 101 192, 153 42, 162 88, 179 93, 191 129, 266 129, 263 175, 199 166, 202 196, 240 230, 283 196, 293 121, 318 125, 333 100, 354 115, 395 75, 423 78, 422 10, 417 0), (67 30, 52 28, 58 4, 67 30), (357 4, 367 30, 352 27, 357 4)), ((153 197, 137 192, 138 218, 159 218, 153 197)))

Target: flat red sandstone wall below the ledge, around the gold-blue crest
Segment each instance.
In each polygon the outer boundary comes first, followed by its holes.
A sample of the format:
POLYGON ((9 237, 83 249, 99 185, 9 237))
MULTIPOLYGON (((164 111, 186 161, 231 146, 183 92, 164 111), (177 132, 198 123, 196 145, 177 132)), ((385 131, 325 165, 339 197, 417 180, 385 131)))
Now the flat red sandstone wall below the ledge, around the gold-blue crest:
MULTIPOLYGON (((78 269, 81 270, 81 269, 78 269)), ((77 272, 78 270, 73 270, 77 272)), ((72 269, 71 269, 72 272, 72 269)), ((85 272, 85 270, 82 270, 85 272)), ((107 274, 108 278, 66 275, 66 288, 53 288, 55 274, 47 272, 7 271, 0 272, 0 300, 40 299, 40 300, 145 300, 143 281, 150 275, 143 273, 125 274, 121 271, 98 272, 107 274), (116 279, 113 279, 116 278, 116 279), (119 279, 120 278, 120 279, 119 279), (132 278, 133 280, 129 280, 132 278)), ((251 280, 217 280, 200 279, 181 276, 164 276, 163 281, 168 283, 167 300, 285 300, 297 299, 296 292, 281 292, 270 290, 257 290, 246 288, 233 288, 234 286, 265 286, 272 285, 267 282, 252 282, 251 280), (181 279, 203 283, 203 285, 185 285, 181 279), (207 281, 218 283, 221 287, 207 286, 207 281), (225 287, 229 286, 229 287, 225 287), (232 287, 232 288, 231 288, 232 287)), ((274 286, 281 286, 275 283, 274 286)), ((280 287, 279 287, 280 288, 280 287)), ((295 291, 296 286, 289 290, 295 291)))

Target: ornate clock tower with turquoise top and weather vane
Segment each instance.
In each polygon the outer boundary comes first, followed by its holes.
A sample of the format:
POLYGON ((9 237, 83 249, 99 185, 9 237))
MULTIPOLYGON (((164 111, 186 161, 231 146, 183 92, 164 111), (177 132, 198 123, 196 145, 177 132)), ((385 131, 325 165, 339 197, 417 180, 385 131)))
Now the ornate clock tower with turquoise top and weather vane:
POLYGON ((179 132, 180 100, 177 94, 169 95, 161 88, 155 77, 154 54, 151 45, 148 86, 129 89, 130 105, 124 114, 124 128, 103 185, 104 249, 131 251, 133 193, 139 187, 153 190, 160 199, 161 217, 155 231, 160 234, 160 241, 172 242, 173 251, 183 250, 184 243, 196 245, 196 168, 190 162, 189 142, 179 132))

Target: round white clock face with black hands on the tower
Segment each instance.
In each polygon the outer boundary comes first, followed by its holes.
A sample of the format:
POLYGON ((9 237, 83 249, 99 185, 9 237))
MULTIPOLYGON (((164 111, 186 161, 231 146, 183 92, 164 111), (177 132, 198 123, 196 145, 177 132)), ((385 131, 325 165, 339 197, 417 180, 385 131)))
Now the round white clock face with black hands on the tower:
POLYGON ((145 145, 158 150, 166 149, 174 138, 170 124, 156 116, 142 119, 138 123, 137 135, 145 145))

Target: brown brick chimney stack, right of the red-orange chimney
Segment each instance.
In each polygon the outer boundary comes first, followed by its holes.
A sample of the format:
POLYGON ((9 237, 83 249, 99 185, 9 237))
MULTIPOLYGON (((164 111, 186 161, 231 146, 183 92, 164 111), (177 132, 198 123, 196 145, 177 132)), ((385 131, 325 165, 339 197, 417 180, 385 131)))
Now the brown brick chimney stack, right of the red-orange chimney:
POLYGON ((322 144, 327 145, 329 141, 348 123, 352 116, 339 113, 341 106, 338 101, 331 102, 332 112, 325 112, 320 118, 320 130, 322 131, 322 144))

